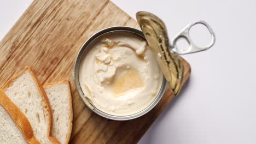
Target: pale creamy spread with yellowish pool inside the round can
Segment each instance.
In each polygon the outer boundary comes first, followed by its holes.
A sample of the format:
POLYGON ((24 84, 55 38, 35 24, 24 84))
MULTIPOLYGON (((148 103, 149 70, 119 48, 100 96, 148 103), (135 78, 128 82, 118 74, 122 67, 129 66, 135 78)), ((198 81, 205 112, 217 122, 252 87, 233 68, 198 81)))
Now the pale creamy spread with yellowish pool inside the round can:
POLYGON ((105 34, 88 49, 80 64, 79 81, 97 109, 132 115, 156 98, 163 77, 144 39, 125 32, 105 34))

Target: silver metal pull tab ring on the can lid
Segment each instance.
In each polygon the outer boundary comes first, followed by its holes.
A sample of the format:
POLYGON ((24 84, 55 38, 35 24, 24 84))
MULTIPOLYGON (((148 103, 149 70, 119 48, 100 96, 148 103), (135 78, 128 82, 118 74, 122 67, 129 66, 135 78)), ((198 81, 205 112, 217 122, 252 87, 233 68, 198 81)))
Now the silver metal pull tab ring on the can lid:
POLYGON ((176 52, 179 55, 185 55, 185 54, 188 54, 188 53, 194 53, 194 52, 200 52, 200 51, 208 50, 214 45, 215 41, 216 41, 216 37, 215 37, 215 34, 212 31, 212 28, 210 27, 210 25, 208 25, 208 23, 206 23, 205 21, 196 21, 196 22, 189 23, 188 26, 186 26, 181 32, 179 32, 172 39, 170 47, 171 47, 171 51, 176 52), (190 28, 193 27, 194 25, 197 25, 197 24, 202 24, 202 25, 206 26, 206 28, 208 29, 208 31, 211 34, 212 41, 209 45, 207 45, 205 47, 196 46, 193 43, 193 41, 191 40, 190 36, 189 36, 190 28), (184 38, 185 40, 188 41, 188 43, 189 43, 188 49, 186 49, 186 50, 178 49, 176 43, 177 43, 177 40, 180 39, 180 38, 184 38))

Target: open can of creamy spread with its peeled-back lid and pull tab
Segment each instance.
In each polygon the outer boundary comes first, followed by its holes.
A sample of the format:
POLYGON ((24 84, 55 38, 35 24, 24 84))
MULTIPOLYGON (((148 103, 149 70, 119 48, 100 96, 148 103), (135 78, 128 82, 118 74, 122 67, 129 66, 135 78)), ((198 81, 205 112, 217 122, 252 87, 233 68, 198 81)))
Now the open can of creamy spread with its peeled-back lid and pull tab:
POLYGON ((184 75, 179 55, 208 50, 216 41, 205 21, 190 23, 170 41, 159 17, 141 11, 136 18, 142 31, 125 26, 103 29, 85 42, 75 60, 78 93, 102 117, 125 121, 145 115, 159 103, 167 83, 177 95, 184 75), (212 41, 205 47, 195 45, 189 36, 197 24, 211 33, 212 41), (185 50, 176 45, 181 38, 189 43, 185 50))

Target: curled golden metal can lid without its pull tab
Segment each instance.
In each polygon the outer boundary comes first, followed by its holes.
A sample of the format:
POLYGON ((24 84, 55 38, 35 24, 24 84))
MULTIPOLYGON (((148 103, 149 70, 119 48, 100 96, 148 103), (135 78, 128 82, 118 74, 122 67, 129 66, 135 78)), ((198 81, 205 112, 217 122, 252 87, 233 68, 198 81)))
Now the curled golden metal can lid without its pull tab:
POLYGON ((141 11, 136 14, 139 26, 152 49, 159 67, 176 95, 181 89, 184 67, 179 56, 169 51, 169 39, 164 22, 157 16, 141 11))

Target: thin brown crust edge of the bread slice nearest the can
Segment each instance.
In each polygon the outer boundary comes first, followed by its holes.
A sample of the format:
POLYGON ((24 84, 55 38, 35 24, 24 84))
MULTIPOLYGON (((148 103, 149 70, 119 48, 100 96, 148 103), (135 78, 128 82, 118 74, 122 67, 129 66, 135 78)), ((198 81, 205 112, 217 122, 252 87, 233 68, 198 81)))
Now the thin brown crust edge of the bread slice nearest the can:
POLYGON ((69 127, 68 127, 68 134, 67 134, 67 139, 65 141, 65 144, 68 144, 69 142, 69 139, 71 137, 71 132, 72 132, 72 125, 73 125, 73 107, 72 107, 72 93, 71 93, 71 87, 70 87, 70 83, 68 80, 63 80, 63 81, 59 81, 59 82, 53 82, 53 83, 45 83, 43 85, 44 88, 47 88, 47 87, 52 87, 54 85, 60 85, 60 84, 67 84, 68 85, 68 91, 69 91, 69 106, 71 107, 71 109, 69 110, 69 112, 71 113, 70 115, 70 119, 69 119, 69 127))

